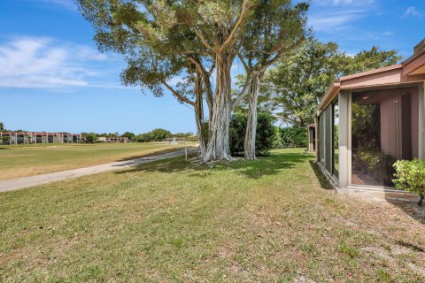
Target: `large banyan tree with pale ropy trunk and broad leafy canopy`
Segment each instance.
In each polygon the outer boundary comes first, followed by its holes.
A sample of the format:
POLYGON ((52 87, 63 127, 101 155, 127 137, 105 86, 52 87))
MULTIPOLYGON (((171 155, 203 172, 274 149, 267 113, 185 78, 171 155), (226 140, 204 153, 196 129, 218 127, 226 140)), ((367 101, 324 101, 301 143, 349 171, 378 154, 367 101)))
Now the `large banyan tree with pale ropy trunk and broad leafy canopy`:
MULTIPOLYGON (((96 29, 95 39, 100 49, 126 57, 128 68, 121 75, 124 83, 149 88, 156 96, 162 96, 167 89, 180 102, 193 106, 198 133, 202 132, 205 99, 209 133, 207 141, 200 141, 201 158, 205 162, 232 159, 229 150, 232 110, 247 97, 251 97, 250 102, 256 99, 267 66, 303 37, 307 9, 307 4, 294 5, 291 0, 78 0, 78 3, 82 15, 96 29), (247 75, 243 88, 232 96, 231 68, 236 57, 243 60, 247 75), (187 78, 182 88, 168 83, 182 77, 187 78)), ((256 108, 256 102, 252 101, 250 106, 256 108)), ((255 109, 251 117, 256 119, 255 109)), ((255 133, 253 126, 256 123, 251 122, 251 132, 247 131, 250 141, 252 130, 255 133)), ((249 149, 253 146, 255 142, 249 149)))

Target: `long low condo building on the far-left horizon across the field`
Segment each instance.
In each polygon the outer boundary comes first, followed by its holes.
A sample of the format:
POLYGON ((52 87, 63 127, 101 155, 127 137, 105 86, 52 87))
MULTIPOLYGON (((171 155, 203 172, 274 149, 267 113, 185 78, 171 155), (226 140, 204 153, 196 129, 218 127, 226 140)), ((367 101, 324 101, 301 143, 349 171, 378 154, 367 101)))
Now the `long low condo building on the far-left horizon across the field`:
POLYGON ((36 133, 36 132, 0 132, 1 144, 30 143, 72 143, 82 142, 81 134, 69 133, 36 133))

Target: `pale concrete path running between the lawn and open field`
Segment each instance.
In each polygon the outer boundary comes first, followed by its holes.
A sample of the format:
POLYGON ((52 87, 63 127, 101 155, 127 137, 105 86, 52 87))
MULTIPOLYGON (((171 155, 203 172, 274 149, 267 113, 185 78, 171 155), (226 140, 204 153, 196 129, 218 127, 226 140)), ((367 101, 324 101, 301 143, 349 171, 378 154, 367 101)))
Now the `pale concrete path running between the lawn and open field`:
MULTIPOLYGON (((61 172, 52 172, 42 175, 35 175, 29 177, 16 178, 11 180, 0 180, 0 192, 12 191, 24 187, 33 187, 37 185, 47 184, 50 182, 65 180, 69 178, 81 177, 85 175, 95 174, 98 172, 106 172, 117 169, 123 169, 138 164, 150 163, 157 160, 173 158, 173 157, 182 157, 185 154, 185 149, 176 150, 173 152, 168 152, 164 154, 159 154, 157 156, 151 157, 141 157, 136 159, 131 159, 128 161, 118 161, 108 164, 100 164, 96 166, 84 167, 79 169, 61 171, 61 172)), ((196 152, 197 149, 188 149, 188 154, 196 152)))

